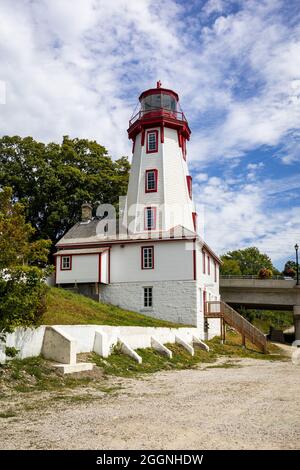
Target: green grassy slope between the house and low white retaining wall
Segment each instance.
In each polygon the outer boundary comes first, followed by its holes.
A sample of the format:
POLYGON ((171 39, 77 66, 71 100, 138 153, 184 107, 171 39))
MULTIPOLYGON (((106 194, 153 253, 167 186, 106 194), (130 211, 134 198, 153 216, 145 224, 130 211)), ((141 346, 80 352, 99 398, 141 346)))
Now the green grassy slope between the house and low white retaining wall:
POLYGON ((157 320, 114 305, 95 302, 80 294, 57 287, 49 289, 47 310, 39 323, 41 325, 166 326, 170 328, 187 326, 157 320))

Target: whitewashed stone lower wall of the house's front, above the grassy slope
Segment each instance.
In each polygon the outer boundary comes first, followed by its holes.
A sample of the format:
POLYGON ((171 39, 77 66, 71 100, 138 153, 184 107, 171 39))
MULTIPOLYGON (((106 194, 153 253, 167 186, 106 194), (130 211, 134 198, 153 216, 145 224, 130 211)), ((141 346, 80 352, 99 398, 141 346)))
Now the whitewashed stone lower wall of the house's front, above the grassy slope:
POLYGON ((100 287, 100 300, 175 323, 199 322, 196 281, 114 283, 100 287), (143 306, 144 287, 153 287, 153 308, 143 306))

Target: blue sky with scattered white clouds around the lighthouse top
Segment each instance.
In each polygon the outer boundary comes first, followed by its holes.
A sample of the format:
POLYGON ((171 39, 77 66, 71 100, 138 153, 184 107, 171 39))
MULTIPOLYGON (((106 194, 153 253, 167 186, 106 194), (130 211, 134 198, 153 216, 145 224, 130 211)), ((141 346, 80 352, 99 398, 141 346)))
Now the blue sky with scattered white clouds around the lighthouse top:
POLYGON ((1 134, 92 138, 129 155, 160 79, 192 129, 200 232, 278 267, 300 244, 298 0, 0 0, 1 134))

